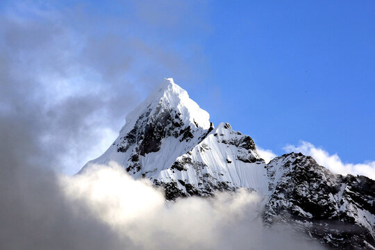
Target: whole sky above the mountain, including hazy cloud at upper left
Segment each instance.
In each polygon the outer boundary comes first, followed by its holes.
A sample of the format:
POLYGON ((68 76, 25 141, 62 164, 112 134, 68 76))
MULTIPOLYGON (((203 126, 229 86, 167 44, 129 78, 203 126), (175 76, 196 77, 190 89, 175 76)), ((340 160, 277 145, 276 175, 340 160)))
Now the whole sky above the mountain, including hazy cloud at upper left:
POLYGON ((303 140, 364 163, 375 160, 374 10, 374 1, 2 1, 12 83, 1 86, 3 110, 44 110, 33 116, 37 139, 83 159, 71 160, 75 172, 173 77, 215 125, 263 149, 280 155, 303 140))

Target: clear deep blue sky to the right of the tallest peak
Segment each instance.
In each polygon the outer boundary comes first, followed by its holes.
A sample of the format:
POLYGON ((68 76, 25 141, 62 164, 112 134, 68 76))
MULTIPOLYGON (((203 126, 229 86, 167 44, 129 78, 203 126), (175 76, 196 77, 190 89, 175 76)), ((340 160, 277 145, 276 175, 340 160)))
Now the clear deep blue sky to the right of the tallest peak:
MULTIPOLYGON (((307 140, 349 162, 374 160, 374 1, 215 4, 204 43, 228 121, 281 152, 307 140)), ((209 88, 210 88, 209 87, 209 88)))

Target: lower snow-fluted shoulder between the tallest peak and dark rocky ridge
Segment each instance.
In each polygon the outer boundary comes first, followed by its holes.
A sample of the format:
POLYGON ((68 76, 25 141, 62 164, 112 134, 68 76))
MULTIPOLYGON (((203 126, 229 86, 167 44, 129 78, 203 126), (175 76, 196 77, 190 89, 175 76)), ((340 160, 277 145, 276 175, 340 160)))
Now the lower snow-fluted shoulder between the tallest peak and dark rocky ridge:
POLYGON ((167 197, 212 195, 215 190, 248 188, 267 194, 265 162, 258 156, 253 140, 219 124, 193 149, 176 158, 170 169, 154 177, 166 189, 167 197))

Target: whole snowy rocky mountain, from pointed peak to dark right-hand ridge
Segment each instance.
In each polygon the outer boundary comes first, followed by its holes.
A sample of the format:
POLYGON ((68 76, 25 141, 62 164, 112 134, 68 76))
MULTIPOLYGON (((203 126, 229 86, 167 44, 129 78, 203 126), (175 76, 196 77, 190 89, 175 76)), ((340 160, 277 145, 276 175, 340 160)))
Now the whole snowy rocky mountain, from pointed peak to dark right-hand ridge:
POLYGON ((247 188, 260 194, 266 224, 292 224, 334 249, 375 249, 374 180, 333 174, 301 153, 266 164, 251 137, 228 123, 214 128, 209 119, 166 78, 126 116, 109 149, 80 172, 115 161, 163 188, 168 200, 247 188))

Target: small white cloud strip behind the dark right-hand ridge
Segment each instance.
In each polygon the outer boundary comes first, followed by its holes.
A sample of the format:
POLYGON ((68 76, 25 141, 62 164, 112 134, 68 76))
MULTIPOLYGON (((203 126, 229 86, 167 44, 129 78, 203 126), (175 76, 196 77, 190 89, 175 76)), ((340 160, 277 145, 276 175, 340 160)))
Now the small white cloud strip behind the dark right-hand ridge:
POLYGON ((315 147, 310 142, 301 141, 296 147, 287 145, 283 148, 285 151, 301 152, 305 155, 312 156, 319 165, 327 167, 332 172, 338 174, 364 175, 375 180, 375 161, 366 163, 342 163, 340 157, 335 153, 330 155, 320 147, 315 147))

